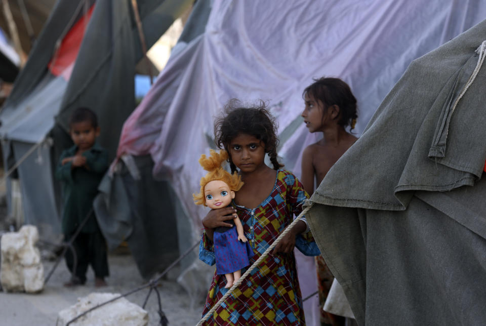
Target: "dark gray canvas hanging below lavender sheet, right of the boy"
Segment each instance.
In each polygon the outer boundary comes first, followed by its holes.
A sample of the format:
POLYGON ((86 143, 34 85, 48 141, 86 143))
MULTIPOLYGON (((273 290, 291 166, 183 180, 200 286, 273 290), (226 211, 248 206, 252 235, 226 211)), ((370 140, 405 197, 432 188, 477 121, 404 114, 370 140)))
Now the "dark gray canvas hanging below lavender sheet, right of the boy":
POLYGON ((109 249, 126 240, 140 274, 149 279, 179 257, 179 248, 191 245, 183 236, 190 226, 169 182, 151 177, 151 157, 137 156, 134 164, 137 178, 121 162, 113 177, 105 176, 94 207, 109 249))

